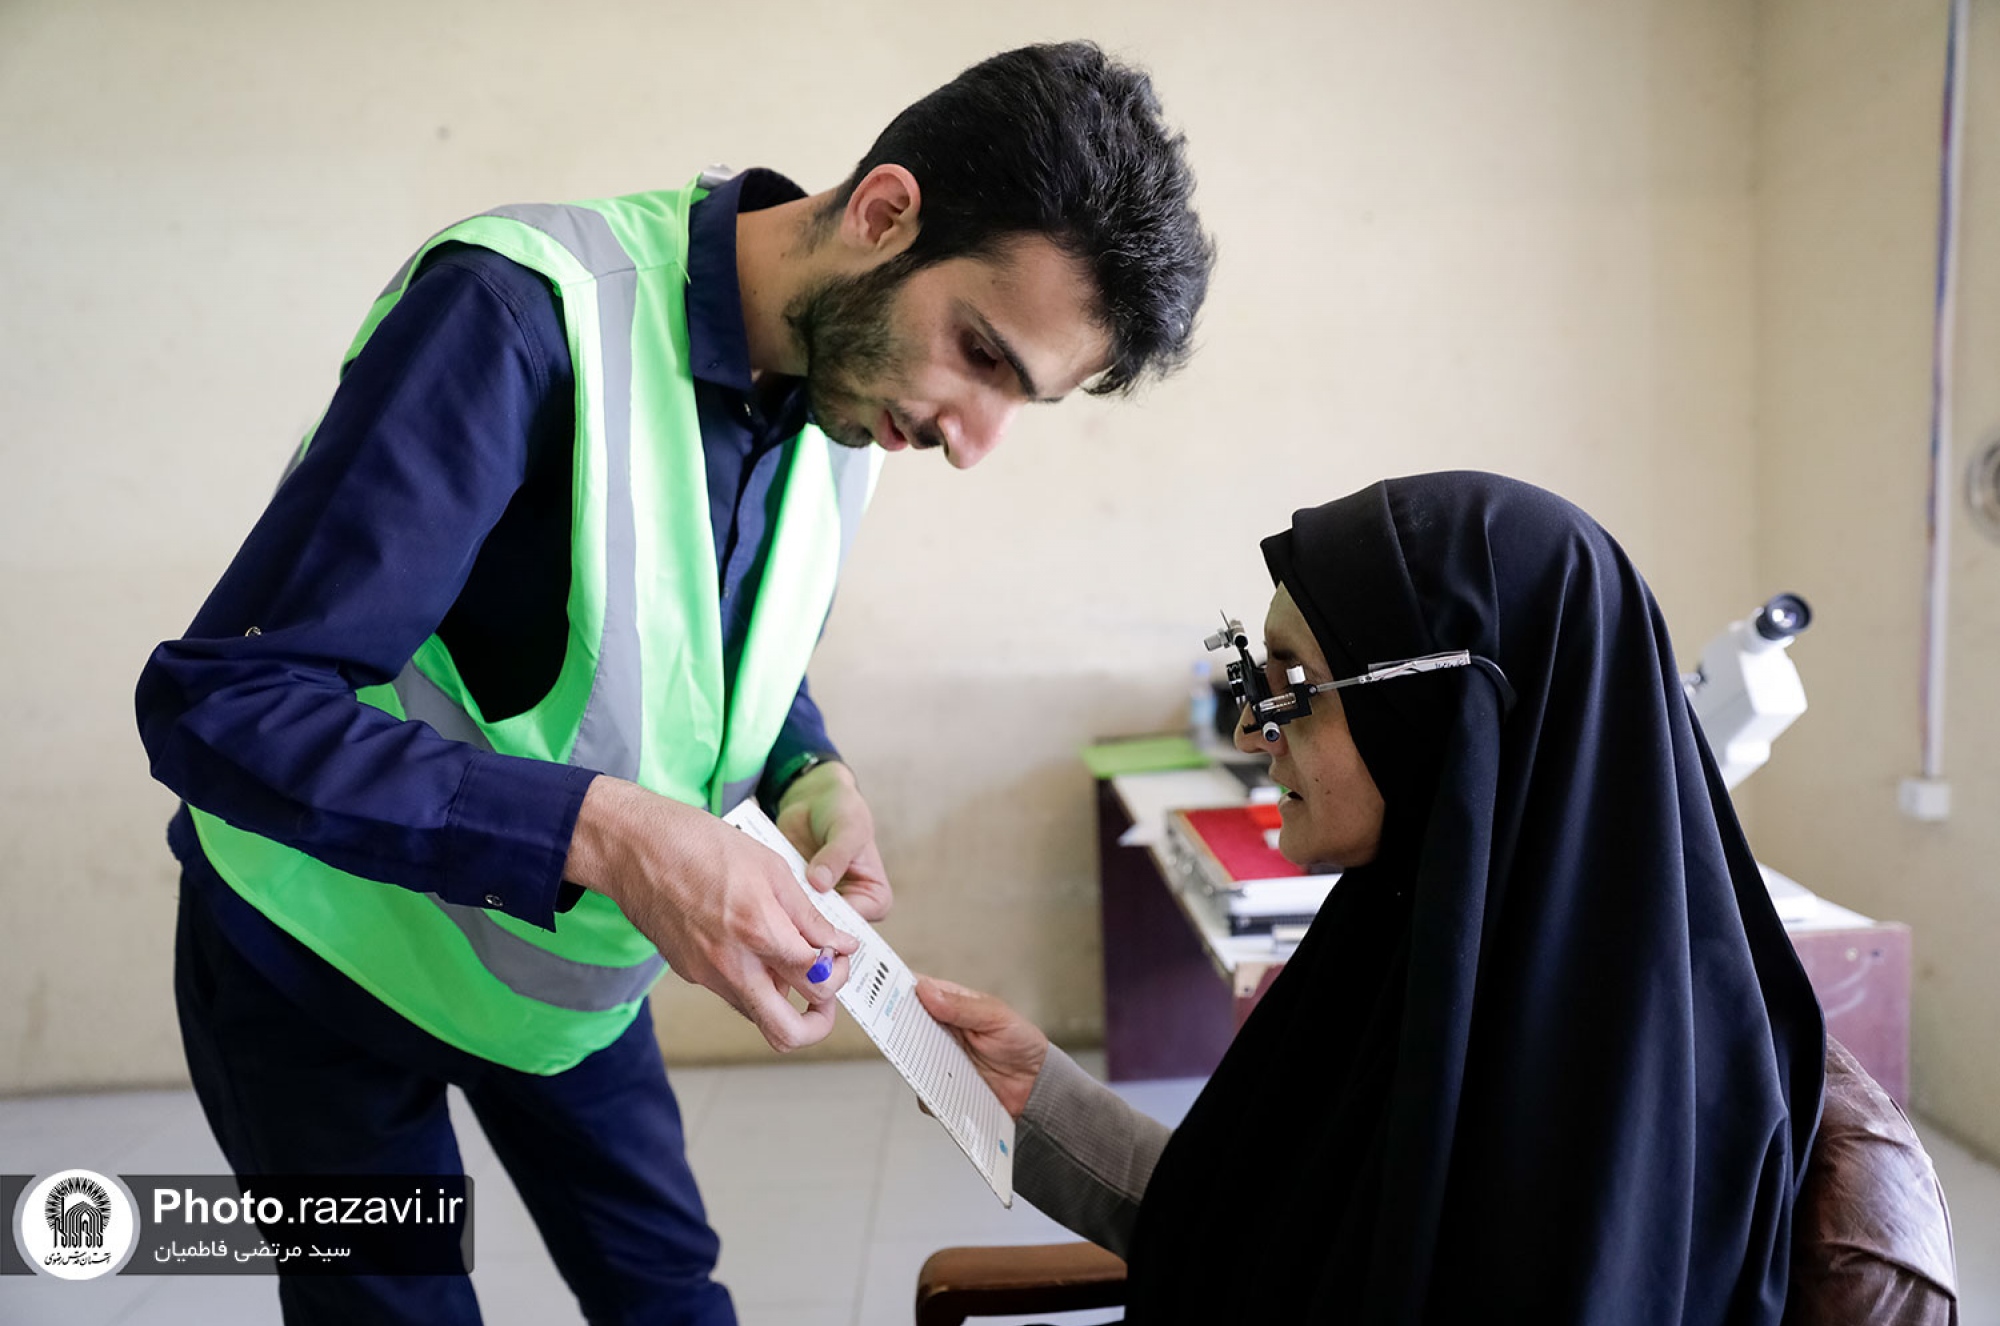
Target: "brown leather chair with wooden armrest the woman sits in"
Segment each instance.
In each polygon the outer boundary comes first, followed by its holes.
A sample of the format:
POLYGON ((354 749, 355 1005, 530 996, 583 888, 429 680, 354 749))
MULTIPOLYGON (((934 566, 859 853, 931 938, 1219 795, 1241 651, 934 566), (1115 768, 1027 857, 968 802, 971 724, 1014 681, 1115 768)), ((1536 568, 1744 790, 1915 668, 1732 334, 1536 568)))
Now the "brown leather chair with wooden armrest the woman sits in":
MULTIPOLYGON (((946 1248, 916 1278, 916 1326, 1124 1302, 1126 1268, 1096 1244, 946 1248)), ((1826 1108, 1798 1192, 1786 1326, 1956 1326, 1952 1220, 1896 1102, 1832 1036, 1826 1108)))

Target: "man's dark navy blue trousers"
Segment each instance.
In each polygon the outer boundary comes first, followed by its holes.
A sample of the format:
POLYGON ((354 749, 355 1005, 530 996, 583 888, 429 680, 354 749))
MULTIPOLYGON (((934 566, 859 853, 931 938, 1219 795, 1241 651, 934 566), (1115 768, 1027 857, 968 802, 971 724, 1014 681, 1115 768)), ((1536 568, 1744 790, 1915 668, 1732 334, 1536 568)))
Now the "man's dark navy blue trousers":
MULTIPOLYGON (((590 1322, 734 1326, 650 1006, 568 1072, 516 1072, 422 1032, 290 936, 266 954, 296 964, 274 982, 212 912, 248 904, 204 894, 182 878, 174 996, 236 1174, 460 1174, 456 1084, 590 1322)), ((476 1240, 478 1190, 474 1256, 476 1240)), ((480 1320, 466 1276, 280 1274, 278 1298, 294 1326, 480 1320)))

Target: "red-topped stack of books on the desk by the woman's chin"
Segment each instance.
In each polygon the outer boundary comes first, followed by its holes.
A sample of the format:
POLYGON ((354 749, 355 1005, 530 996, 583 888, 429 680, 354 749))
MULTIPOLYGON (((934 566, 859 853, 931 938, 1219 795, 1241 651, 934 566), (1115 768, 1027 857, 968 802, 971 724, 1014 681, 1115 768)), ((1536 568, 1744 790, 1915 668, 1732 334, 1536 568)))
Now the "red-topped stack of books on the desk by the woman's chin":
POLYGON ((1230 934, 1310 924, 1338 874, 1310 874, 1278 854, 1276 806, 1170 810, 1164 856, 1176 884, 1230 934))

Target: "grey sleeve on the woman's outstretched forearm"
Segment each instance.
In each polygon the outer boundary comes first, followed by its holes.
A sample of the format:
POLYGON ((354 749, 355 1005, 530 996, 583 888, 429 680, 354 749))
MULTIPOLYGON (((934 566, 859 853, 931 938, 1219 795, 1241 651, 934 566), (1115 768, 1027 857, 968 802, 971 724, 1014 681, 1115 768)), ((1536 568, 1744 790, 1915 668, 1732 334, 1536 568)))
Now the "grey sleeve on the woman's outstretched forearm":
POLYGON ((1124 1256, 1146 1180, 1172 1134, 1050 1046, 1020 1114, 1014 1188, 1050 1218, 1124 1256))

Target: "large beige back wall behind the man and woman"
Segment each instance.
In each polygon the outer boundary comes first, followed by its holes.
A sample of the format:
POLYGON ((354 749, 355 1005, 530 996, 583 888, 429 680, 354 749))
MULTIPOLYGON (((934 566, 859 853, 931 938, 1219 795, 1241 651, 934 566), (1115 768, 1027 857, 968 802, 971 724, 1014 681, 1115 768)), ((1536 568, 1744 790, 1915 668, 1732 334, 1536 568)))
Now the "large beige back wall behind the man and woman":
MULTIPOLYGON (((146 778, 132 682, 420 236, 712 160, 826 186, 966 62, 1070 34, 1154 68, 1222 266, 1198 360, 1140 404, 1034 410, 976 474, 888 466, 814 686, 874 798, 890 934, 918 966, 1098 1034, 1074 750, 1174 722, 1196 636, 1218 606, 1262 610, 1256 538, 1294 506, 1496 468, 1600 514, 1688 650, 1754 598, 1756 30, 1738 0, 14 0, 0 1090, 182 1076, 172 800, 146 778)), ((670 990, 662 1024, 680 1056, 762 1054, 696 992, 670 990)))

